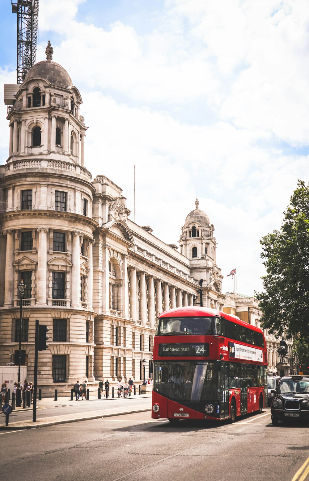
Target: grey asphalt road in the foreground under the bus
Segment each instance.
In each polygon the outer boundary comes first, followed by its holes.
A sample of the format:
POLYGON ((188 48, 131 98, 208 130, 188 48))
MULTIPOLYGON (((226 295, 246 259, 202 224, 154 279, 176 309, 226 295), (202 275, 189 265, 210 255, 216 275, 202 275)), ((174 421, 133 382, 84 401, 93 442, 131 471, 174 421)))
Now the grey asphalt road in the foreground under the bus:
MULTIPOLYGON (((0 446, 6 481, 292 481, 308 460, 309 425, 273 427, 269 409, 234 424, 177 427, 144 412, 1 432, 0 446)), ((309 480, 305 468, 294 481, 301 479, 309 480)))

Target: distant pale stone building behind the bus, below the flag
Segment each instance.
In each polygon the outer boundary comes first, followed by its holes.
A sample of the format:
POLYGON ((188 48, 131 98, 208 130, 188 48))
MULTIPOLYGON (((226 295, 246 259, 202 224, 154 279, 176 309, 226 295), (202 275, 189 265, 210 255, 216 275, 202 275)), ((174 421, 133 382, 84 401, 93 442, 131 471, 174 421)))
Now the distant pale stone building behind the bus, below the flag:
MULTIPOLYGON (((225 294, 225 301, 223 306, 223 312, 238 316, 245 322, 253 324, 254 326, 260 326, 260 319, 262 317, 262 311, 259 308, 259 302, 255 297, 248 297, 235 292, 227 292, 225 294)), ((268 371, 279 372, 277 365, 279 363, 278 348, 280 346, 280 339, 276 339, 273 334, 270 334, 268 329, 264 329, 264 336, 267 345, 268 355, 268 371)), ((290 374, 296 374, 295 356, 293 354, 293 340, 285 340, 288 345, 287 351, 287 363, 291 366, 290 374)))

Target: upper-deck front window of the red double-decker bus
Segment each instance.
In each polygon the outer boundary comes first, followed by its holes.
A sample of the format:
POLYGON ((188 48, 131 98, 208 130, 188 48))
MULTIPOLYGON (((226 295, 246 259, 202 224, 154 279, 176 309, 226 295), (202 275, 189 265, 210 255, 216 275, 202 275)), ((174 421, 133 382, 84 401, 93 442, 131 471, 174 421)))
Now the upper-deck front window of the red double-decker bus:
POLYGON ((158 322, 157 336, 202 335, 214 333, 215 317, 161 317, 158 322))

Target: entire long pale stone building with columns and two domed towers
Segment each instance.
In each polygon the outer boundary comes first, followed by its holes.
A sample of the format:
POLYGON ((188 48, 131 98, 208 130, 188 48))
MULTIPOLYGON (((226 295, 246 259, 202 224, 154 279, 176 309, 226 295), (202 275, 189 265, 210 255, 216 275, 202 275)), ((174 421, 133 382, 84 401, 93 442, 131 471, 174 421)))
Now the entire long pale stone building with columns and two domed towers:
POLYGON ((85 167, 87 127, 81 94, 67 71, 47 60, 22 85, 6 85, 9 156, 0 166, 0 365, 18 349, 24 279, 22 349, 33 379, 35 319, 49 330, 39 353, 46 394, 77 379, 143 380, 149 374, 158 315, 193 305, 221 309, 214 226, 196 208, 175 245, 129 219, 121 188, 85 167))

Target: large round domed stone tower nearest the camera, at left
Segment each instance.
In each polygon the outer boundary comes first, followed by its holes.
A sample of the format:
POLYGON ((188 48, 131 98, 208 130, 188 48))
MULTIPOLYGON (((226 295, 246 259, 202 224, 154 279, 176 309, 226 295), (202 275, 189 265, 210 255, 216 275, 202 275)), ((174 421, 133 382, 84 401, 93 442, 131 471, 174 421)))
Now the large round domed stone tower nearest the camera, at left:
POLYGON ((44 392, 93 376, 92 306, 94 187, 84 165, 87 127, 81 95, 67 71, 46 60, 22 85, 6 85, 9 157, 0 166, 0 364, 19 342, 17 285, 23 300, 22 349, 33 379, 35 319, 49 328, 49 349, 39 353, 44 392), (58 384, 58 386, 56 386, 58 384))

